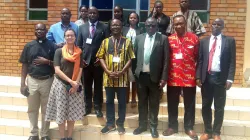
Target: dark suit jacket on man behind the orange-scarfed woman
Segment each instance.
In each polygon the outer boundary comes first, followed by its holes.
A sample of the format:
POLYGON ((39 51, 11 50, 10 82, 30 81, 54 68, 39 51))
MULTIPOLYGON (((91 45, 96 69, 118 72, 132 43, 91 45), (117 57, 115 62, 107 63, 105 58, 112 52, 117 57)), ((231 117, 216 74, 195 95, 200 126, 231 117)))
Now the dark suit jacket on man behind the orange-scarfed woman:
POLYGON ((89 26, 89 22, 79 26, 77 40, 77 46, 83 50, 83 59, 87 64, 95 61, 96 53, 99 50, 102 41, 108 37, 107 26, 98 22, 94 37, 92 38, 92 44, 87 44, 86 40, 90 37, 89 26))

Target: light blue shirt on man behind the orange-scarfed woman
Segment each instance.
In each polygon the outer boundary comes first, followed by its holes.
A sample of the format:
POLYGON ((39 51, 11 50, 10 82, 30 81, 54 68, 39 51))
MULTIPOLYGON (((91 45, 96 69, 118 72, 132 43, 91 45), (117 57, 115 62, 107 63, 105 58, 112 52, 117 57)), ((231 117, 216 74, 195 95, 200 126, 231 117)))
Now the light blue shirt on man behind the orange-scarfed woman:
POLYGON ((59 44, 59 43, 64 43, 64 32, 68 29, 72 28, 76 32, 76 38, 77 38, 77 33, 78 33, 78 26, 74 22, 70 22, 68 27, 65 27, 62 22, 58 22, 56 24, 53 24, 46 37, 48 40, 59 44))

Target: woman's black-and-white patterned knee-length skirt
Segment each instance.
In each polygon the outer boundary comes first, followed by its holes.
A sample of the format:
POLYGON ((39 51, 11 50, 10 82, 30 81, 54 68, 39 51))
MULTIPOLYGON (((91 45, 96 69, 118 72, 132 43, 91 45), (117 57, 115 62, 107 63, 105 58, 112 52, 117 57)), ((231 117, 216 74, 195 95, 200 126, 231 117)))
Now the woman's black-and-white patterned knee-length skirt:
POLYGON ((82 120, 84 114, 83 90, 69 94, 66 91, 66 85, 55 77, 50 89, 45 120, 62 124, 65 120, 82 120))

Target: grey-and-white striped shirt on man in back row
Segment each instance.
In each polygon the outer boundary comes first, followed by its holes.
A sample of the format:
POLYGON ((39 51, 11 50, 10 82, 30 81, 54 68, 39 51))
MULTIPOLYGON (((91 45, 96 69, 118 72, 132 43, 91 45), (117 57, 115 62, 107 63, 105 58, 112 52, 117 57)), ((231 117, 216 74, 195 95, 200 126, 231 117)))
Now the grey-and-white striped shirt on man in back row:
MULTIPOLYGON (((181 11, 178 11, 173 15, 173 17, 177 15, 184 15, 187 20, 187 32, 192 32, 196 35, 200 35, 203 33, 206 33, 206 29, 204 28, 199 16, 195 11, 188 10, 186 13, 182 13, 181 11)), ((170 34, 173 34, 174 27, 173 27, 173 18, 170 20, 170 24, 168 26, 167 32, 170 34)))

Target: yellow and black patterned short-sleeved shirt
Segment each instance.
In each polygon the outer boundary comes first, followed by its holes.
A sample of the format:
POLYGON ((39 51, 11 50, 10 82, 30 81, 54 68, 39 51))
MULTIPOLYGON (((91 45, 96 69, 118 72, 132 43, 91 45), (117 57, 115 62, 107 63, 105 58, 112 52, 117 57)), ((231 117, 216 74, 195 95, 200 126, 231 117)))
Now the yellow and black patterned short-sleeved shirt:
MULTIPOLYGON (((120 41, 116 41, 117 51, 115 51, 115 43, 112 37, 106 38, 102 41, 102 45, 97 52, 96 57, 104 59, 107 68, 110 71, 122 71, 124 66, 130 59, 135 58, 131 41, 125 37, 121 37, 120 41), (120 62, 113 62, 114 54, 120 58, 120 62)), ((110 79, 106 73, 103 74, 104 87, 127 87, 128 86, 128 72, 116 79, 110 79)))

